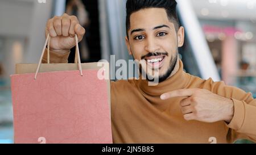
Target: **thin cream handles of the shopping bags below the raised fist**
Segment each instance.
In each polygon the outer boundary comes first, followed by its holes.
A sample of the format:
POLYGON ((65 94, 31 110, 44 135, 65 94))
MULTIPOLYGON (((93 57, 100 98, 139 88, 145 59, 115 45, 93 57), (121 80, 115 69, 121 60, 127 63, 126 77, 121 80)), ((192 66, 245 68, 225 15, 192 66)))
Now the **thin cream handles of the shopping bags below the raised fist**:
MULTIPOLYGON (((78 64, 79 66, 79 70, 80 70, 80 74, 82 75, 82 65, 81 65, 81 59, 80 59, 80 52, 79 52, 79 44, 78 44, 78 37, 77 35, 75 35, 75 40, 76 40, 76 57, 75 57, 75 63, 78 64), (78 63, 77 63, 78 62, 78 63)), ((47 63, 49 64, 49 43, 51 41, 51 36, 49 36, 49 34, 47 35, 46 38, 46 43, 44 43, 44 48, 42 51, 42 55, 40 57, 39 63, 38 63, 38 68, 36 69, 36 73, 35 73, 35 79, 38 76, 38 72, 40 69, 40 66, 42 64, 42 60, 43 60, 43 56, 44 56, 44 52, 46 51, 46 45, 48 44, 48 49, 47 49, 47 63)))

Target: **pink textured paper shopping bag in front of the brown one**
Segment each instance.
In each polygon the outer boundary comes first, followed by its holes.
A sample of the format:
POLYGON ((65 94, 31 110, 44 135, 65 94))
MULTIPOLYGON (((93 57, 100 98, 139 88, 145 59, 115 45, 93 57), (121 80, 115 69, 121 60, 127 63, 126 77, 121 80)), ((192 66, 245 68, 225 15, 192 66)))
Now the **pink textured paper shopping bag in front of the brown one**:
POLYGON ((11 76, 15 143, 112 143, 108 83, 97 72, 11 76))

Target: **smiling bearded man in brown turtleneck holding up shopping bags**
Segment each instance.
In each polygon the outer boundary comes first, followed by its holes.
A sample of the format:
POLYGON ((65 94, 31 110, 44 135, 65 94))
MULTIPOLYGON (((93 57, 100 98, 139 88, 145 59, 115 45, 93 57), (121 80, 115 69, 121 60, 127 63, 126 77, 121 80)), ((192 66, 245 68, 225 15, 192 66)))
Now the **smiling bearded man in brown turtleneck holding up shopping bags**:
MULTIPOLYGON (((233 143, 256 140, 256 99, 224 82, 183 71, 177 48, 184 42, 174 0, 128 0, 126 44, 135 60, 158 75, 148 80, 112 82, 114 143, 233 143)), ((182 10, 181 10, 182 11, 182 10)), ((51 62, 67 62, 69 50, 85 33, 75 16, 49 19, 51 62)), ((44 58, 44 62, 46 56, 44 58)), ((146 68, 142 67, 142 71, 146 68)))

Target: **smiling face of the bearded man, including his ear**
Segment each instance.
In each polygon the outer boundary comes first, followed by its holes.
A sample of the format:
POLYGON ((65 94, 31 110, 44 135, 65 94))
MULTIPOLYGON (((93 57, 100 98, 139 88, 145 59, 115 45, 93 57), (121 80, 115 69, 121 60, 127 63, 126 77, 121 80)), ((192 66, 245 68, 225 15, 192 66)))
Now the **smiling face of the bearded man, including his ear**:
POLYGON ((143 71, 151 69, 147 73, 153 72, 159 82, 170 77, 177 62, 177 48, 184 42, 184 28, 176 31, 165 9, 150 8, 131 14, 128 35, 129 54, 135 60, 146 61, 143 71))

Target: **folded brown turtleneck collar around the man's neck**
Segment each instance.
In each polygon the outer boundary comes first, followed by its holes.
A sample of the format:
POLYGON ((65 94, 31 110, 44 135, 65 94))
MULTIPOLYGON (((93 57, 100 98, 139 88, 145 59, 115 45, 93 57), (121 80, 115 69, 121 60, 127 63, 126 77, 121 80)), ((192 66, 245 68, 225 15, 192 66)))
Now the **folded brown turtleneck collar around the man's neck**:
POLYGON ((146 79, 139 79, 139 88, 151 96, 160 96, 163 93, 167 93, 168 91, 184 89, 189 82, 189 76, 183 70, 183 62, 179 60, 180 68, 177 72, 167 78, 165 81, 158 83, 156 86, 148 86, 148 81, 146 79))

